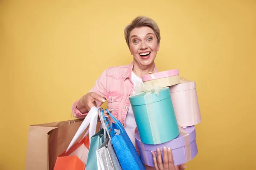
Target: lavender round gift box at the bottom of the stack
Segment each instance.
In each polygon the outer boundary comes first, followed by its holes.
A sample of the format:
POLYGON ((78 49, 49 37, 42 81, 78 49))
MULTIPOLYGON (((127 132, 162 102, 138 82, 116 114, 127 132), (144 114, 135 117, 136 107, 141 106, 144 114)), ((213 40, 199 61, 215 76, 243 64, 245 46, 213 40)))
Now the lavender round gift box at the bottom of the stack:
POLYGON ((198 148, 195 140, 195 137, 196 137, 195 126, 187 127, 182 131, 183 132, 185 131, 187 134, 184 136, 184 133, 180 132, 180 135, 177 136, 177 138, 162 144, 144 144, 141 142, 140 135, 137 132, 135 134, 135 139, 136 139, 137 146, 139 148, 141 161, 148 166, 154 167, 151 151, 154 151, 157 155, 156 150, 157 148, 160 148, 162 153, 162 159, 163 159, 163 147, 171 148, 175 166, 184 164, 190 161, 191 159, 195 158, 195 156, 198 153, 198 148), (185 147, 184 139, 189 140, 189 144, 187 144, 186 147, 185 147))

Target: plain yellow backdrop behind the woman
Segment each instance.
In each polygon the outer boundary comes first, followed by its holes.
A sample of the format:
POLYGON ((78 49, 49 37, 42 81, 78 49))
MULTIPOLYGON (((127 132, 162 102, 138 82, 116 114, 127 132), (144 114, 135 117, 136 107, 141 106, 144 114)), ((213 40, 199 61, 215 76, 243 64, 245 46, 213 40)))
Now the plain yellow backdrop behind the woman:
POLYGON ((123 29, 154 19, 160 71, 196 81, 188 170, 255 169, 255 0, 0 0, 0 169, 25 167, 29 125, 70 119, 103 70, 132 61, 123 29))

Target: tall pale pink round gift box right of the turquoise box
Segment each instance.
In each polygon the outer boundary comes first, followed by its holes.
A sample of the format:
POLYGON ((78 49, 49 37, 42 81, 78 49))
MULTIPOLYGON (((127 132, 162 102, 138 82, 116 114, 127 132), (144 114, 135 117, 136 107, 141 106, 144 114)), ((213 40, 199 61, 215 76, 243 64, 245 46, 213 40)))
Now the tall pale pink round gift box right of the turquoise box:
POLYGON ((198 96, 194 81, 180 81, 170 88, 172 104, 178 125, 193 126, 201 122, 198 96))

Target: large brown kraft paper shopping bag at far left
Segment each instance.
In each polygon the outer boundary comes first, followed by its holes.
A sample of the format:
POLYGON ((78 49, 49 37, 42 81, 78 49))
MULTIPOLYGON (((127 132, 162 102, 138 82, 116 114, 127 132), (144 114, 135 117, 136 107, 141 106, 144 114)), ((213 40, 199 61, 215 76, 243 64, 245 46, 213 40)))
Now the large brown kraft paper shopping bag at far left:
POLYGON ((67 148, 81 123, 82 119, 76 119, 30 125, 25 170, 52 170, 57 156, 67 148))

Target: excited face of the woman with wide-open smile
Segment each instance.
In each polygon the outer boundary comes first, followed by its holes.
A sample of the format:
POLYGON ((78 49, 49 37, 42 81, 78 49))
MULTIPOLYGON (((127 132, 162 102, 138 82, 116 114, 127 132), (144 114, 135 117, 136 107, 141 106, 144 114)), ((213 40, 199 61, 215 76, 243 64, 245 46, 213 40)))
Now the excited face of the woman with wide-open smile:
POLYGON ((131 55, 134 56, 134 62, 142 67, 147 67, 154 62, 160 42, 157 43, 154 31, 150 27, 144 26, 131 31, 129 46, 131 55))

